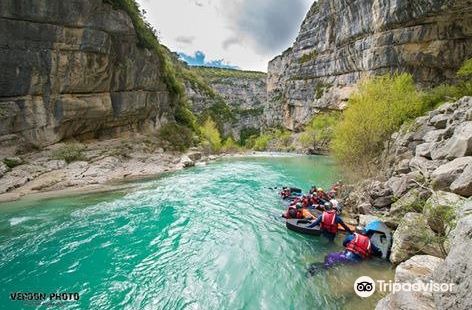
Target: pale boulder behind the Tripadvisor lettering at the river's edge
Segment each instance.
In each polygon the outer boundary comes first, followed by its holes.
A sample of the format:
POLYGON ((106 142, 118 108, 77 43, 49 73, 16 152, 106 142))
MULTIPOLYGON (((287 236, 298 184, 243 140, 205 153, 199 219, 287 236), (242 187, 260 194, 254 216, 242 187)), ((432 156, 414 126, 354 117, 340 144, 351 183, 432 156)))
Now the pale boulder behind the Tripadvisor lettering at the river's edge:
MULTIPOLYGON (((424 283, 428 284, 433 279, 434 270, 443 262, 443 259, 431 255, 416 255, 401 263, 395 270, 395 282, 397 283, 424 283)), ((404 291, 392 292, 381 299, 376 310, 417 310, 434 309, 434 297, 428 291, 404 291)))

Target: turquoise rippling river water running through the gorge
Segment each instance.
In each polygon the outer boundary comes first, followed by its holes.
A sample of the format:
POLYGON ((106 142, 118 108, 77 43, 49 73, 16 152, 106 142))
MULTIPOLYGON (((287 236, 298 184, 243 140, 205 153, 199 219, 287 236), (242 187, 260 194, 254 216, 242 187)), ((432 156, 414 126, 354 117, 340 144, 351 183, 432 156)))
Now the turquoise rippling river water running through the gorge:
POLYGON ((220 160, 119 192, 0 205, 1 309, 371 309, 361 275, 392 279, 379 260, 308 277, 342 248, 287 231, 269 187, 338 178, 327 157, 220 160), (14 292, 78 293, 25 302, 14 292))

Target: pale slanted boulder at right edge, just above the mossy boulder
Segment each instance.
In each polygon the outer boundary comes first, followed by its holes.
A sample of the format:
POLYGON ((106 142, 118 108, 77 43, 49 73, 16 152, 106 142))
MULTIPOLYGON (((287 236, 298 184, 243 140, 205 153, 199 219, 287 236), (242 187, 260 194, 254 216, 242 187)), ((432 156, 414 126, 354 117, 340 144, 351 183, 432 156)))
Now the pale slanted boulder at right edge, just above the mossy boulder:
POLYGON ((431 173, 433 187, 438 190, 449 190, 450 185, 464 172, 467 165, 472 163, 472 156, 454 159, 439 166, 431 173))

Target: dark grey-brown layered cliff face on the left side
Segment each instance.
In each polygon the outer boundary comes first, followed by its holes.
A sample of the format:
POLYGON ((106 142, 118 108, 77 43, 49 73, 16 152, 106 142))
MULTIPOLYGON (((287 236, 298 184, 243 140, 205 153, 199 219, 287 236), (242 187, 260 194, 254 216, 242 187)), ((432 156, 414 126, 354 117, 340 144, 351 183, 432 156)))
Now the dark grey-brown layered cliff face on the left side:
POLYGON ((173 118, 159 57, 102 0, 0 2, 0 146, 155 129, 173 118))

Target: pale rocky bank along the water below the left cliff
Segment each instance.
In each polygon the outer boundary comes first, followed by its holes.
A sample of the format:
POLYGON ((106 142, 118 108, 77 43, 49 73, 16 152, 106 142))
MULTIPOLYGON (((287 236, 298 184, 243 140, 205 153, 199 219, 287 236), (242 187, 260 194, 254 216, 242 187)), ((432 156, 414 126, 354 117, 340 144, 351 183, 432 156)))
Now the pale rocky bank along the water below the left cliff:
POLYGON ((6 157, 0 161, 0 202, 45 192, 88 192, 114 188, 117 181, 156 176, 222 155, 165 151, 148 136, 86 144, 54 144, 41 151, 6 157), (65 152, 74 152, 74 160, 65 152), (65 158, 65 159, 64 159, 65 158))

